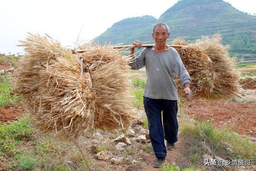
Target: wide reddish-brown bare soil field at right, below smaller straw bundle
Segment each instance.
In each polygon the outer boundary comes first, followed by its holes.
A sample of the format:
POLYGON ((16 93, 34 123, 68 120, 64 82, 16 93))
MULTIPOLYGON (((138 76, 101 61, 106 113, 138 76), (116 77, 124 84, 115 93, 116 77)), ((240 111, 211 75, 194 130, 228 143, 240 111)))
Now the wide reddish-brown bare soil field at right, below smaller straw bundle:
POLYGON ((256 137, 256 104, 229 101, 196 101, 188 106, 188 114, 196 120, 209 120, 216 127, 231 126, 232 130, 256 137))

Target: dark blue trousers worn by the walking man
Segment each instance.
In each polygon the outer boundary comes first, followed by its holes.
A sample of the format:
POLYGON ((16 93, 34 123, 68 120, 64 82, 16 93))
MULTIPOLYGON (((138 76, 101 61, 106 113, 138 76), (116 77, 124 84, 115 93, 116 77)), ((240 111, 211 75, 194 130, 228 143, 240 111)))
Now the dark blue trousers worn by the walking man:
POLYGON ((155 157, 165 157, 167 151, 164 139, 170 143, 178 141, 177 100, 143 98, 155 157))

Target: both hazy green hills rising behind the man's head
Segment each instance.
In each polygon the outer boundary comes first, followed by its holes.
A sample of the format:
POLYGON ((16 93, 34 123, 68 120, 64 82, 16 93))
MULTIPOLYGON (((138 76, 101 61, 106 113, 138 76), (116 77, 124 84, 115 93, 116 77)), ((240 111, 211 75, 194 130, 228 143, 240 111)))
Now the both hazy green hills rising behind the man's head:
POLYGON ((131 44, 135 39, 153 43, 152 27, 165 22, 171 30, 170 40, 182 37, 193 41, 202 36, 220 33, 223 44, 230 44, 230 52, 256 57, 256 16, 235 9, 222 0, 182 0, 159 19, 153 16, 132 17, 115 23, 96 40, 100 44, 131 44))

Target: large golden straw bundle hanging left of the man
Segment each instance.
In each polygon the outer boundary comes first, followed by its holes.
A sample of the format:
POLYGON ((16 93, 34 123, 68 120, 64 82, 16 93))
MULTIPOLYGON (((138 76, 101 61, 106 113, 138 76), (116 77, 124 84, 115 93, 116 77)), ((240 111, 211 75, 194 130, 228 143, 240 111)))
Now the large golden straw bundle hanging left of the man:
POLYGON ((62 139, 63 126, 77 138, 92 127, 129 125, 134 116, 128 96, 129 57, 111 46, 86 44, 80 63, 57 41, 32 34, 21 46, 27 55, 20 62, 16 90, 24 95, 41 130, 55 130, 62 139))

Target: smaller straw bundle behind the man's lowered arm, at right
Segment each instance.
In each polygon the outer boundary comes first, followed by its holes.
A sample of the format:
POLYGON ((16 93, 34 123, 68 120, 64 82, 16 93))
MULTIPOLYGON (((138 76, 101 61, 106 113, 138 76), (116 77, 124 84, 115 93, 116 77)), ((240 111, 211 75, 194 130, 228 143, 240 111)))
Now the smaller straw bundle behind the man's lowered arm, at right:
MULTIPOLYGON (((228 46, 221 44, 221 36, 203 37, 194 44, 188 44, 184 39, 174 39, 174 45, 187 45, 176 48, 191 77, 192 101, 199 98, 220 100, 239 95, 239 73, 235 71, 235 62, 229 58, 228 46)), ((179 94, 186 94, 175 77, 179 94)))

